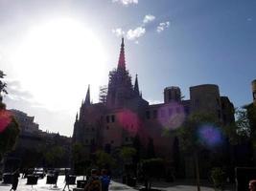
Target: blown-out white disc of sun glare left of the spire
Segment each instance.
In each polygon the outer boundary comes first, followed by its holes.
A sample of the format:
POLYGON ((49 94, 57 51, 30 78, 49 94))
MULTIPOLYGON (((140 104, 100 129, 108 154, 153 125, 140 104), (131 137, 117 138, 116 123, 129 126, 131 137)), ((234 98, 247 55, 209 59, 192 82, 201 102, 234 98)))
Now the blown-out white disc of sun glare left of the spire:
POLYGON ((32 27, 12 61, 16 77, 37 102, 65 109, 73 98, 85 96, 87 84, 102 83, 106 56, 100 40, 84 24, 62 18, 32 27))

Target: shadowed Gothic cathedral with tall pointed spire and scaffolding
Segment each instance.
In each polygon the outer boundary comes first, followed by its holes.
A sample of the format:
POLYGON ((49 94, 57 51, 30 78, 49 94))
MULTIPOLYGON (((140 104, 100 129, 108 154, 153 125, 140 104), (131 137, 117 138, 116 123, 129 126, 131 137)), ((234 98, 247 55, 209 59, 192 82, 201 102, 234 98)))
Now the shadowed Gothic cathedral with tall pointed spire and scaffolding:
POLYGON ((109 73, 105 95, 98 103, 91 103, 88 87, 74 124, 73 142, 80 142, 88 153, 97 149, 111 153, 131 146, 139 137, 145 146, 153 142, 157 157, 173 159, 175 137, 165 132, 178 128, 192 112, 211 112, 223 124, 234 121, 233 104, 220 95, 215 84, 190 87, 187 100, 176 86, 166 87, 163 92, 163 103, 159 104, 150 104, 142 97, 137 75, 132 83, 128 73, 122 38, 117 68, 109 73))

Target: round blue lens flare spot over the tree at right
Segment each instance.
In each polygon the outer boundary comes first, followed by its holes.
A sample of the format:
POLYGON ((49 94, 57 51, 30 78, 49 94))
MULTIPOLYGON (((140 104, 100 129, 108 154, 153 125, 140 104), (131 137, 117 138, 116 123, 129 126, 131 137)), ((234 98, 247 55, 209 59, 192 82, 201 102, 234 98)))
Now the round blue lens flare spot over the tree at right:
POLYGON ((213 125, 203 125, 198 129, 198 138, 202 144, 210 147, 218 146, 222 142, 221 131, 213 125))

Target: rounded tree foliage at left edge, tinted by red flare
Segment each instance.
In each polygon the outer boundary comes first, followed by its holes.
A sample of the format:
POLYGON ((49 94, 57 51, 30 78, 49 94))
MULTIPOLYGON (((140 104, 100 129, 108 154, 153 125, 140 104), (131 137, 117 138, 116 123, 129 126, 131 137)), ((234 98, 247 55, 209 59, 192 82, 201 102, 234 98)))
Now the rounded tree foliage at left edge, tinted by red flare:
POLYGON ((19 132, 19 125, 16 119, 11 116, 11 122, 8 124, 6 129, 0 133, 0 159, 4 154, 12 151, 15 146, 16 139, 18 138, 19 132))

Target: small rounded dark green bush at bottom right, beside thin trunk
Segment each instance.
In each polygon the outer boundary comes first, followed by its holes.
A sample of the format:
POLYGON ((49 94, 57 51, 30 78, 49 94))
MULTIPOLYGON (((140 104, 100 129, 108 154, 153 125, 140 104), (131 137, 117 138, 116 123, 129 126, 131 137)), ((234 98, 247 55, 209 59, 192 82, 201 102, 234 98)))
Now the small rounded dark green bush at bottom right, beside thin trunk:
POLYGON ((225 173, 220 167, 211 170, 211 180, 213 180, 216 189, 223 189, 225 184, 225 173))

